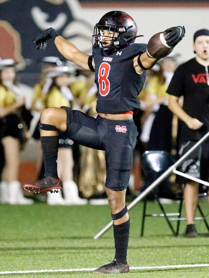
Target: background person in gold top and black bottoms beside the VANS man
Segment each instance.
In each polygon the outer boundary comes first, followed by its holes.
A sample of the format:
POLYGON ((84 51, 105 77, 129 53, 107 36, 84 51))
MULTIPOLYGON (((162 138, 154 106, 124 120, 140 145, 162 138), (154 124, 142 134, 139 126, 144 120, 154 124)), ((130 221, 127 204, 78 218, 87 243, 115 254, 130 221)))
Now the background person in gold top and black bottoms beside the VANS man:
POLYGON ((154 112, 155 118, 150 131, 147 150, 172 150, 173 113, 168 109, 169 95, 166 93, 174 75, 177 63, 174 55, 159 61, 159 71, 156 71, 147 85, 147 109, 154 112))

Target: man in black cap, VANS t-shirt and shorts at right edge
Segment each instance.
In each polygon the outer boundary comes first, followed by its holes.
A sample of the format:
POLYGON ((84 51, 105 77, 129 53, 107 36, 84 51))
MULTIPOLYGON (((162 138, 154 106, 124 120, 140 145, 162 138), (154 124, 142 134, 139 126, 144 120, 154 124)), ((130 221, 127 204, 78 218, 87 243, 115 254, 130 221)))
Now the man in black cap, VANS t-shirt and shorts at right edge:
MULTIPOLYGON (((209 30, 194 33, 196 57, 180 65, 168 87, 169 108, 180 119, 179 155, 186 153, 209 131, 209 30), (183 96, 183 107, 179 98, 183 96)), ((181 165, 181 170, 195 178, 209 179, 209 142, 196 149, 181 165)), ((194 215, 199 184, 186 180, 184 202, 187 216, 186 237, 196 237, 194 215)))

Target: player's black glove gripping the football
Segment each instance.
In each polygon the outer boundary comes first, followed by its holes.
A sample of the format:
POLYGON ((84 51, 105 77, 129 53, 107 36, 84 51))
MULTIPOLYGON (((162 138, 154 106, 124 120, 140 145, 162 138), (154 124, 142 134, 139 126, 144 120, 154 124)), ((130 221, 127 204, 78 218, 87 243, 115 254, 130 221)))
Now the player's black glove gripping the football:
POLYGON ((169 33, 165 40, 168 46, 174 48, 183 39, 185 35, 185 28, 184 26, 171 27, 166 29, 164 33, 169 33))

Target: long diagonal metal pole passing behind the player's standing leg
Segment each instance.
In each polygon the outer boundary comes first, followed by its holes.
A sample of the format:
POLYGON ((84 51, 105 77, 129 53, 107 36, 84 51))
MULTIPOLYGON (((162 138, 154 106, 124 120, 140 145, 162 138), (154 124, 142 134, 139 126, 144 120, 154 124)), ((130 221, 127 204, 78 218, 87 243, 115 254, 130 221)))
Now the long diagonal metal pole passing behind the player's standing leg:
MULTIPOLYGON (((209 132, 206 133, 193 147, 191 147, 179 160, 177 160, 172 166, 170 166, 161 176, 157 178, 153 183, 150 184, 135 200, 133 200, 128 206, 127 209, 130 210, 133 208, 141 199, 146 197, 160 182, 168 178, 173 170, 181 164, 197 147, 203 144, 204 141, 209 137, 209 132)), ((104 234, 113 224, 113 221, 109 222, 103 229, 101 229, 93 239, 98 239, 101 235, 104 234)))

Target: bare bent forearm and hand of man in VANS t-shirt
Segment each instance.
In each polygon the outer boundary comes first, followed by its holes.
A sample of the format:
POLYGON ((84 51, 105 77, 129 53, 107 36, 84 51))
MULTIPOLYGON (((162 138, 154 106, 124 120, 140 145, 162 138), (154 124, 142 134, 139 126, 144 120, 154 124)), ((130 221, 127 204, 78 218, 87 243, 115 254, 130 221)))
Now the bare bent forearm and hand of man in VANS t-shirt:
POLYGON ((169 109, 192 130, 198 130, 202 127, 203 123, 196 118, 192 118, 187 114, 179 104, 179 98, 169 95, 169 109))

